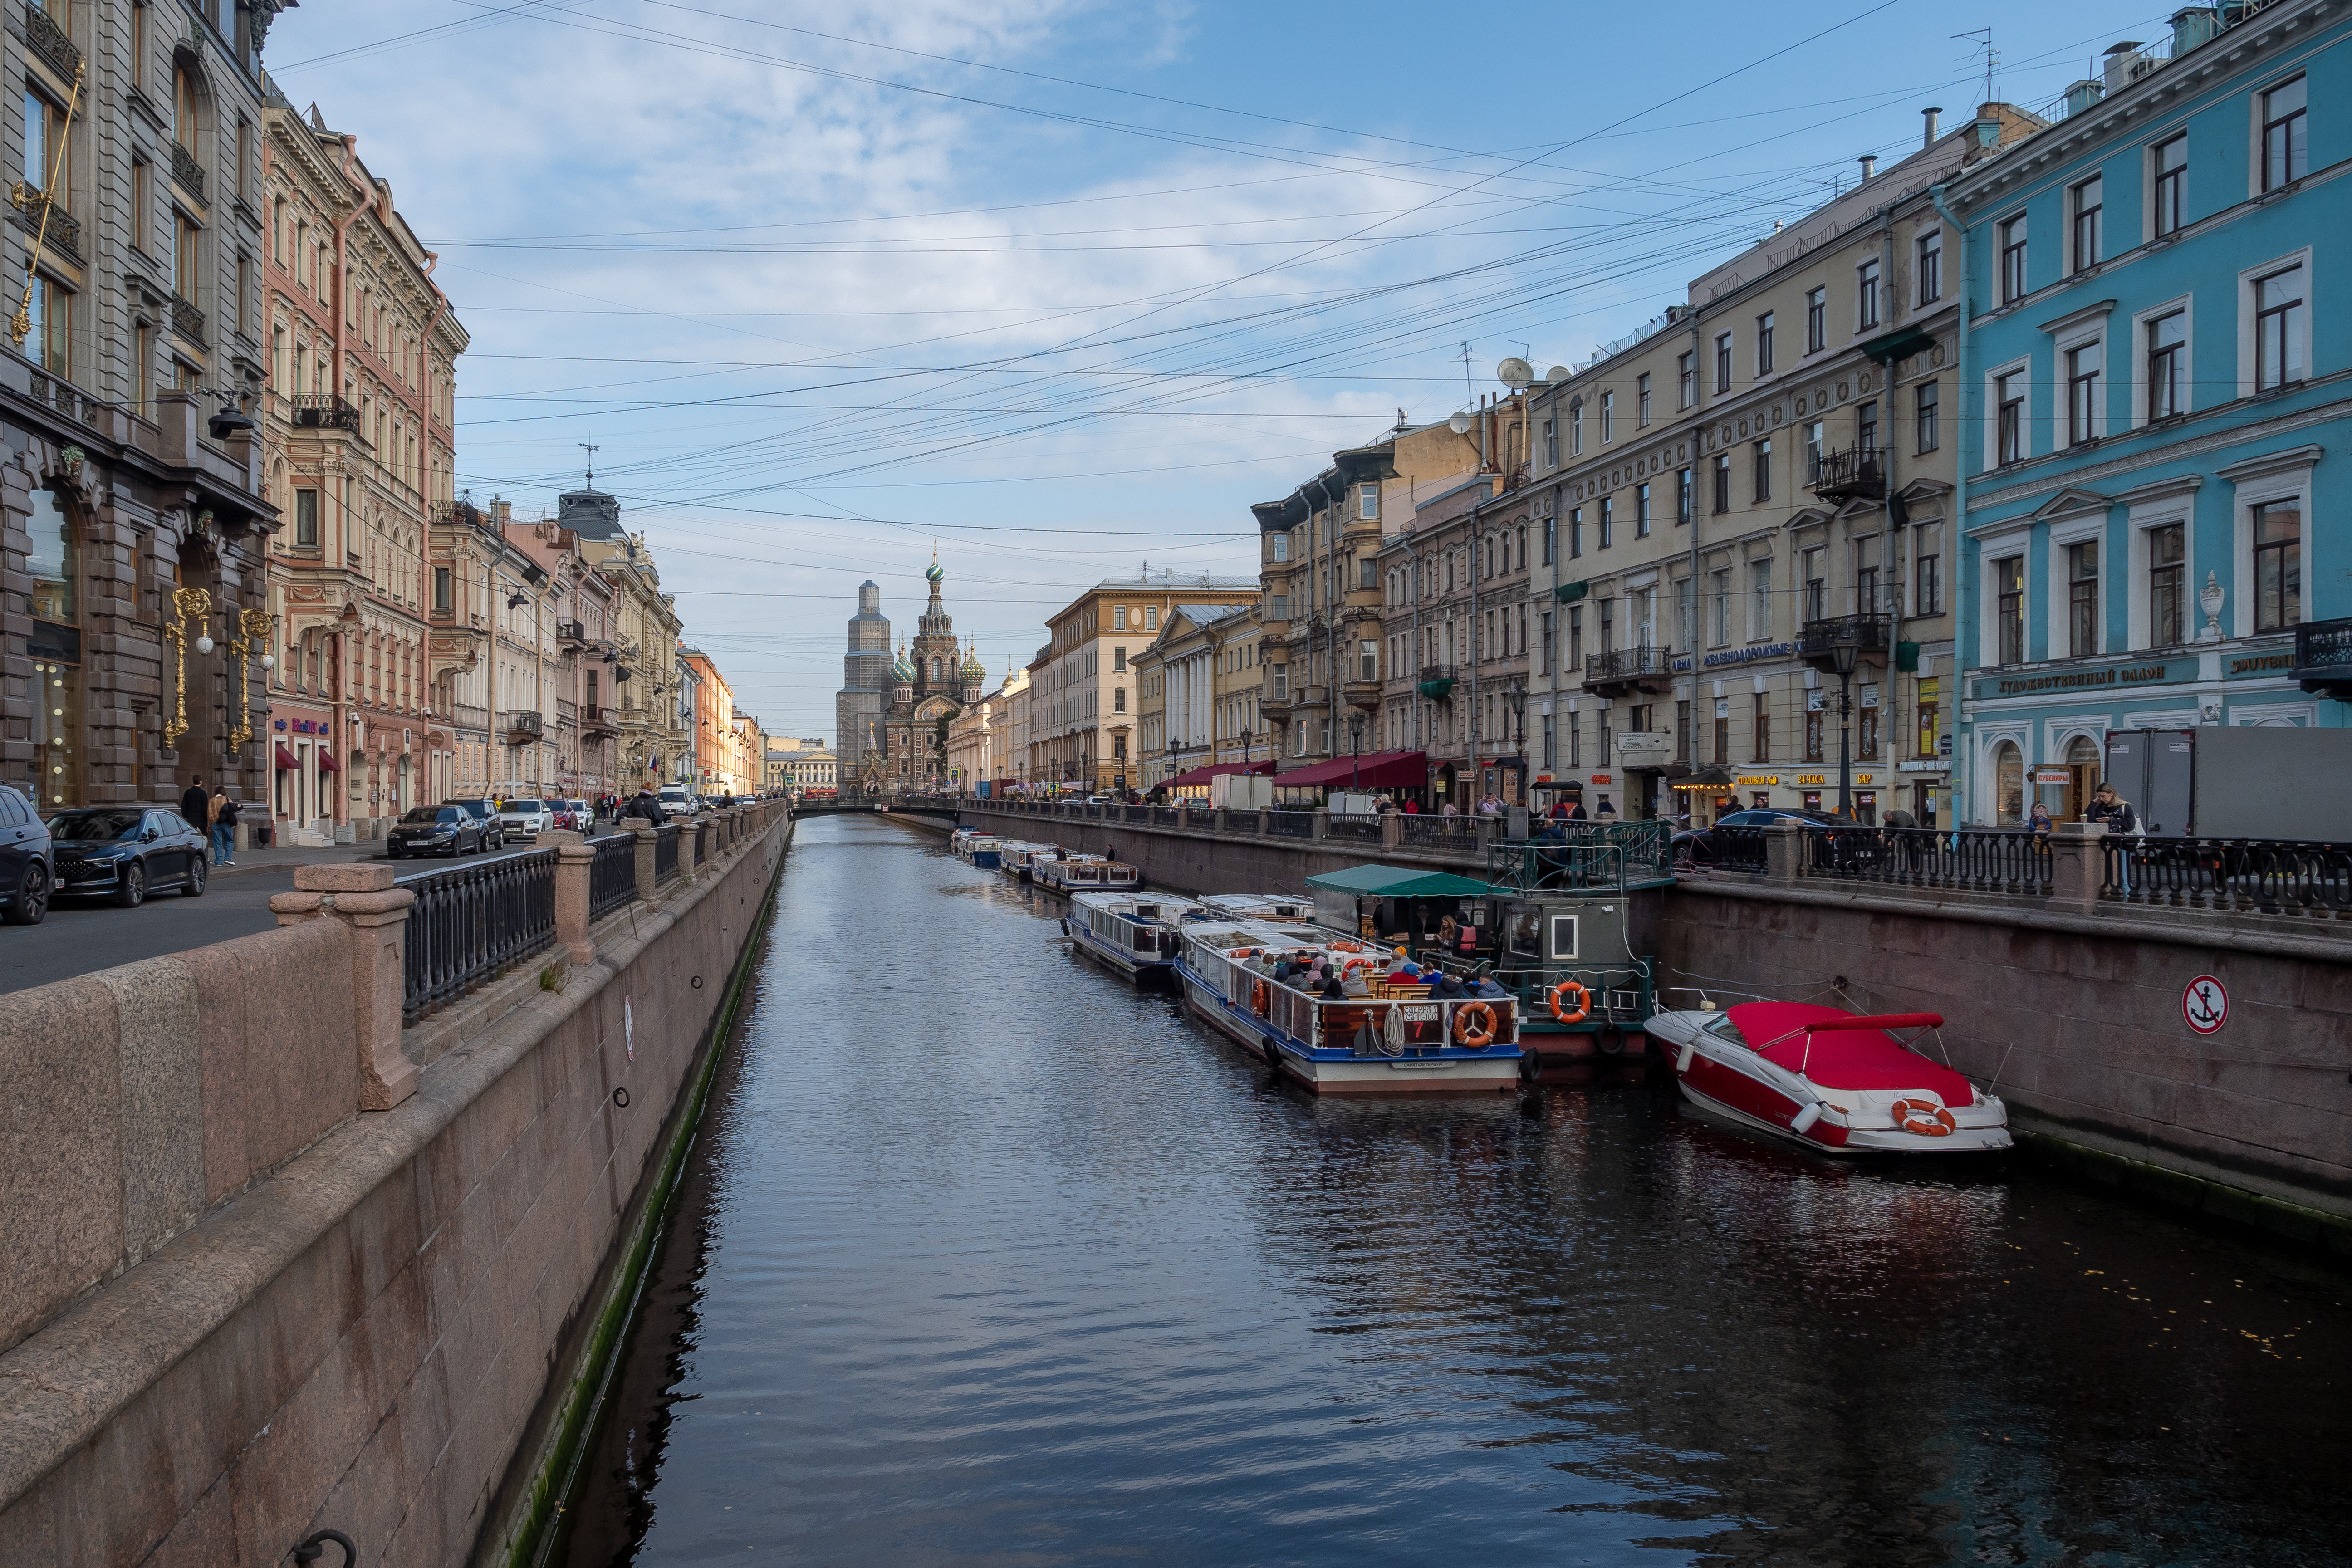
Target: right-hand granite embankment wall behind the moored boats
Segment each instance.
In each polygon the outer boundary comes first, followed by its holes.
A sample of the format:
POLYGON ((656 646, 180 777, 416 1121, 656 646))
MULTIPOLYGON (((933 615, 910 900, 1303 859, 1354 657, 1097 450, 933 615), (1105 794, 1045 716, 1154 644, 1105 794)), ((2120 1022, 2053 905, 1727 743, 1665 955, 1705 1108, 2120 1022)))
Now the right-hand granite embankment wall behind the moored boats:
MULTIPOLYGON (((1468 856, 1371 844, 1018 811, 962 820, 1117 853, 1152 886, 1185 893, 1298 891, 1367 860, 1479 875, 1468 856)), ((1835 999, 1844 978, 1856 1009, 1943 1013, 1952 1063, 1994 1086, 2034 1135, 2030 1147, 2098 1180, 2352 1251, 2352 922, 2084 912, 1743 877, 1689 879, 1656 898, 1661 985, 1835 999), (2230 992, 2216 1034, 2183 1016, 2197 976, 2230 992)))

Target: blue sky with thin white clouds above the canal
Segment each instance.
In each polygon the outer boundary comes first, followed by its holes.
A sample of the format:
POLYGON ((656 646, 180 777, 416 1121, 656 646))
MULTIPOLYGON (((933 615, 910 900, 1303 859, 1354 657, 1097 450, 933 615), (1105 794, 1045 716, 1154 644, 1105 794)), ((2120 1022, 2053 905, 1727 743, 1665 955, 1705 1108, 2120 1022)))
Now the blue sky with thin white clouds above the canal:
POLYGON ((459 473, 597 482, 771 731, 936 543, 990 675, 1141 562, 1682 299, 1863 153, 2039 106, 2169 12, 308 0, 268 38, 473 334, 459 473), (1463 346, 1468 343, 1468 388, 1463 346))

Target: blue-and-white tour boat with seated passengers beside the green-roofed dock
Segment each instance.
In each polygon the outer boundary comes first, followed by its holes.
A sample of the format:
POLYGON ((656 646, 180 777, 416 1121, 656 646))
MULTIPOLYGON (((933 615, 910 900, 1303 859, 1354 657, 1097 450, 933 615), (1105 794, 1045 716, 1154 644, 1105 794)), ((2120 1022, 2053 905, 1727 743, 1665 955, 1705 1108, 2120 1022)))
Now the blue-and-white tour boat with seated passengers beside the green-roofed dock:
POLYGON ((1319 1095, 1477 1093, 1519 1084, 1519 1009, 1510 997, 1432 999, 1388 985, 1378 947, 1303 926, 1197 919, 1181 926, 1176 976, 1202 1018, 1319 1095), (1277 959, 1350 966, 1327 999, 1272 978, 1277 959))

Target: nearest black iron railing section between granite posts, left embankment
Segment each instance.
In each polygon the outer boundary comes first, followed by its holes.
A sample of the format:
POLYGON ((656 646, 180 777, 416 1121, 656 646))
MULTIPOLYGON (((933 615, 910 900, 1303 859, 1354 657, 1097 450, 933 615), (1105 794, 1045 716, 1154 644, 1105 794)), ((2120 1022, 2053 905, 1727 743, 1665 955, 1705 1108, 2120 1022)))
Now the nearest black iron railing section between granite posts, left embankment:
POLYGON ((416 896, 405 931, 402 1023, 447 1006, 555 940, 555 853, 536 849, 393 884, 416 896))

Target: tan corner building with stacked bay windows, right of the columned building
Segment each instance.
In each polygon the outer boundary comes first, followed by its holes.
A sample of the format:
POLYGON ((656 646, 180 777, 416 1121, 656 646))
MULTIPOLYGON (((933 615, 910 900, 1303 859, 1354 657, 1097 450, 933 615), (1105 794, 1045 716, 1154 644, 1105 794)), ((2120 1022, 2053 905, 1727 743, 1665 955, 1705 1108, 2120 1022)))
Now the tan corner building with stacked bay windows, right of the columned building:
POLYGON ((1406 425, 1331 465, 1279 501, 1261 501, 1263 588, 1261 712, 1284 766, 1348 755, 1350 717, 1374 733, 1383 705, 1381 543, 1411 527, 1416 503, 1479 473, 1526 463, 1517 404, 1482 407, 1451 423, 1406 425))

